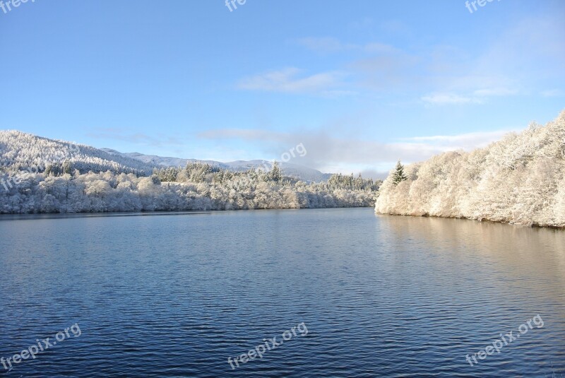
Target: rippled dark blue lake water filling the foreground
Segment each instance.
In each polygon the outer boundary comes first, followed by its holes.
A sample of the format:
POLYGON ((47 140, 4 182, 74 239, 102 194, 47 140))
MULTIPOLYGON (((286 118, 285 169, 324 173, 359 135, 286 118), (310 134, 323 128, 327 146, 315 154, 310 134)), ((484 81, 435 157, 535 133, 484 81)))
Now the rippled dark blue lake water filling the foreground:
POLYGON ((80 329, 2 376, 565 377, 563 231, 370 208, 2 219, 0 357, 80 329))

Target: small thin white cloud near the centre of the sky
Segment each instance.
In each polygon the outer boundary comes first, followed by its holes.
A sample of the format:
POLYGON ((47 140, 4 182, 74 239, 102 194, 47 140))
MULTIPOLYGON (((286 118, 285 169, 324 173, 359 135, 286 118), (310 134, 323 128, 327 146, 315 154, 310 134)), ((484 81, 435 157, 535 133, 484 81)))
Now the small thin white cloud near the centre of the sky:
POLYGON ((343 94, 341 90, 346 73, 328 71, 303 75, 297 68, 268 71, 239 81, 237 87, 244 90, 263 90, 283 93, 314 93, 320 95, 343 94))

